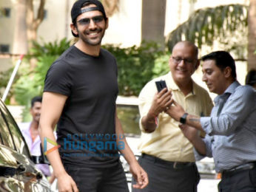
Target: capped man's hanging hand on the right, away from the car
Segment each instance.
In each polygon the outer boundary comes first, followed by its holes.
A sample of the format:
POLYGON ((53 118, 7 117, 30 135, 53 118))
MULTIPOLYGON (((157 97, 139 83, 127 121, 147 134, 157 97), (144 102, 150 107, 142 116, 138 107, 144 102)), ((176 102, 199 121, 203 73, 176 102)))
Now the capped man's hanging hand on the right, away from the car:
POLYGON ((136 180, 136 184, 132 185, 133 188, 141 189, 145 188, 146 185, 149 184, 149 178, 146 174, 146 171, 144 171, 144 169, 141 168, 141 165, 139 165, 137 161, 129 165, 129 171, 132 173, 132 176, 136 180))

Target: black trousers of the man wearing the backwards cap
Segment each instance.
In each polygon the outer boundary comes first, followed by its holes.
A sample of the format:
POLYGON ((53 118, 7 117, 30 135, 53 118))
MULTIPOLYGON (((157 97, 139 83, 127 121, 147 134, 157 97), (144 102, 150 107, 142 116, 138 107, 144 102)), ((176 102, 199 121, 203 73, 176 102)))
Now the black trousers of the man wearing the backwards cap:
POLYGON ((111 168, 64 167, 79 192, 129 192, 121 162, 111 168))

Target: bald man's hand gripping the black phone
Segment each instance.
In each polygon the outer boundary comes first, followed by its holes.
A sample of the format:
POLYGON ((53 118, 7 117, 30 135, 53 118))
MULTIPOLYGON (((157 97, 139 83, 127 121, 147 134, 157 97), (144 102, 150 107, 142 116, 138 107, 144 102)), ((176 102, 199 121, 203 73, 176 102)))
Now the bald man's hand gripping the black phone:
POLYGON ((166 88, 155 94, 152 106, 149 109, 150 114, 158 116, 161 112, 165 112, 166 109, 172 104, 172 91, 167 91, 166 88))

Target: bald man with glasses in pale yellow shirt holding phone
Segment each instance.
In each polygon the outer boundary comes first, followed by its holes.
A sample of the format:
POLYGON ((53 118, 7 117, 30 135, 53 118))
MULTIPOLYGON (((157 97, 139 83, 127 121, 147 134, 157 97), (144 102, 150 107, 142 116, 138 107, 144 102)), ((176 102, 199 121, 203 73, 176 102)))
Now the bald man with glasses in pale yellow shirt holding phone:
POLYGON ((149 185, 132 191, 197 191, 200 176, 192 144, 183 136, 178 122, 165 111, 171 97, 175 97, 192 114, 204 116, 211 112, 209 94, 191 78, 198 65, 198 47, 189 41, 178 42, 169 58, 170 72, 149 81, 141 90, 138 149, 142 155, 138 162, 149 176, 149 185), (169 91, 158 93, 156 80, 165 80, 169 91))

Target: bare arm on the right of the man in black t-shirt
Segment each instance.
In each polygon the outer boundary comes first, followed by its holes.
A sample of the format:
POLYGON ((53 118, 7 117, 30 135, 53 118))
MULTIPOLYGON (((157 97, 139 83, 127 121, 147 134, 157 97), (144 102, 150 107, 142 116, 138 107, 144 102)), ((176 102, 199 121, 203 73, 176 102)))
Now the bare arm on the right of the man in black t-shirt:
MULTIPOLYGON (((116 112, 116 109, 115 109, 116 112)), ((118 115, 115 114, 115 134, 123 135, 124 131, 121 126, 120 120, 118 119, 118 115)), ((127 160, 129 164, 129 171, 132 173, 132 176, 136 179, 137 183, 133 185, 133 188, 145 188, 146 185, 149 183, 148 176, 146 174, 146 171, 144 171, 143 168, 141 168, 141 165, 138 164, 138 161, 136 160, 134 154, 132 153, 132 150, 129 148, 129 145, 127 144, 127 140, 124 137, 124 140, 120 140, 120 137, 117 139, 117 143, 119 141, 124 142, 124 149, 119 150, 121 154, 124 154, 124 159, 127 160)))

